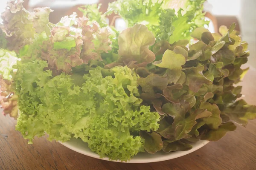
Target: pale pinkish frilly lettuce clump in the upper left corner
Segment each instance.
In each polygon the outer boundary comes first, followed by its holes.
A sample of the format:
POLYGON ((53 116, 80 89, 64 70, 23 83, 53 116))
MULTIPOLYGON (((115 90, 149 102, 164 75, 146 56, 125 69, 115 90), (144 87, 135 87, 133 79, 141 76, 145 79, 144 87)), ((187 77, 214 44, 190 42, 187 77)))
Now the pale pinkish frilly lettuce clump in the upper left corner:
POLYGON ((0 25, 7 41, 6 47, 17 54, 20 48, 31 44, 38 34, 44 32, 49 36, 53 26, 49 23, 50 8, 35 8, 29 12, 22 3, 23 0, 9 1, 1 15, 3 25, 0 25))

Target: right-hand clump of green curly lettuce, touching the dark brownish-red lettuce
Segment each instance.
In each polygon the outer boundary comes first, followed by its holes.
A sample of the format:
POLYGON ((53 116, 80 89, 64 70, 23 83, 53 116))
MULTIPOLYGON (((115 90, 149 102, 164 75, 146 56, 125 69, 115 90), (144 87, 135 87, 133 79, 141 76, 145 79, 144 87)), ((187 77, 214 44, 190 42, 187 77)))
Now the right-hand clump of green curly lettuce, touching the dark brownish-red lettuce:
POLYGON ((157 130, 157 121, 160 116, 158 113, 151 113, 149 107, 140 106, 140 109, 138 108, 142 101, 135 97, 139 93, 136 83, 137 76, 134 72, 127 67, 116 67, 113 68, 113 71, 114 79, 112 77, 99 79, 97 75, 101 73, 97 70, 90 71, 90 77, 84 77, 90 80, 86 81, 82 87, 84 93, 87 96, 95 96, 93 97, 94 102, 99 101, 100 107, 96 110, 97 114, 91 115, 93 120, 89 124, 91 130, 96 130, 96 132, 88 132, 88 138, 82 139, 88 141, 89 147, 101 156, 127 160, 137 154, 140 147, 143 146, 140 137, 131 136, 128 129, 130 131, 157 130), (128 94, 124 88, 129 91, 128 94), (102 115, 102 113, 104 114, 102 115), (106 138, 107 136, 108 138, 106 138))

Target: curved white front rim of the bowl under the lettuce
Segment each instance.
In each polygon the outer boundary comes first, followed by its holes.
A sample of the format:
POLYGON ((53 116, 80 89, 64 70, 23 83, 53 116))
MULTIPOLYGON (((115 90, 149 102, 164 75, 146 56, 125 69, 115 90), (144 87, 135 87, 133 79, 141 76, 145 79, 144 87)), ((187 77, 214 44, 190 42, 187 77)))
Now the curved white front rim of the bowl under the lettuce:
MULTIPOLYGON (((72 139, 72 140, 74 140, 74 139, 72 139)), ((120 161, 120 160, 109 160, 108 157, 100 158, 100 156, 97 153, 79 149, 78 147, 76 147, 75 144, 73 144, 72 140, 67 141, 67 142, 60 142, 60 141, 58 141, 58 142, 71 150, 74 150, 74 151, 81 153, 83 155, 86 155, 86 156, 90 156, 92 158, 101 159, 101 160, 105 160, 105 161, 122 162, 122 163, 151 163, 151 162, 159 162, 159 161, 175 159, 175 158, 187 155, 189 153, 192 153, 209 143, 209 141, 206 141, 206 140, 199 140, 198 142, 195 142, 194 144, 192 144, 193 147, 191 150, 176 151, 176 152, 166 153, 163 156, 156 156, 156 157, 146 158, 146 159, 136 158, 136 156, 135 156, 135 157, 131 158, 129 161, 125 162, 125 161, 120 161)), ((147 153, 147 154, 150 154, 150 153, 147 153)))

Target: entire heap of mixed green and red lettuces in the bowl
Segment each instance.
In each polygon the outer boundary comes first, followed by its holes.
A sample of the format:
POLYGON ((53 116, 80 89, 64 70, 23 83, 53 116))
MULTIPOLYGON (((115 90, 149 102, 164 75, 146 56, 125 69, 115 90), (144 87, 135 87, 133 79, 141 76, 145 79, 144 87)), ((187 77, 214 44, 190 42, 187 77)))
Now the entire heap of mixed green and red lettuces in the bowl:
POLYGON ((247 42, 202 28, 204 0, 117 0, 49 22, 9 1, 0 24, 0 105, 29 143, 80 138, 101 157, 169 153, 256 119, 241 97, 247 42), (105 18, 116 13, 129 28, 105 18), (197 40, 193 43, 193 40, 197 40), (18 113, 19 111, 19 113, 18 113))

